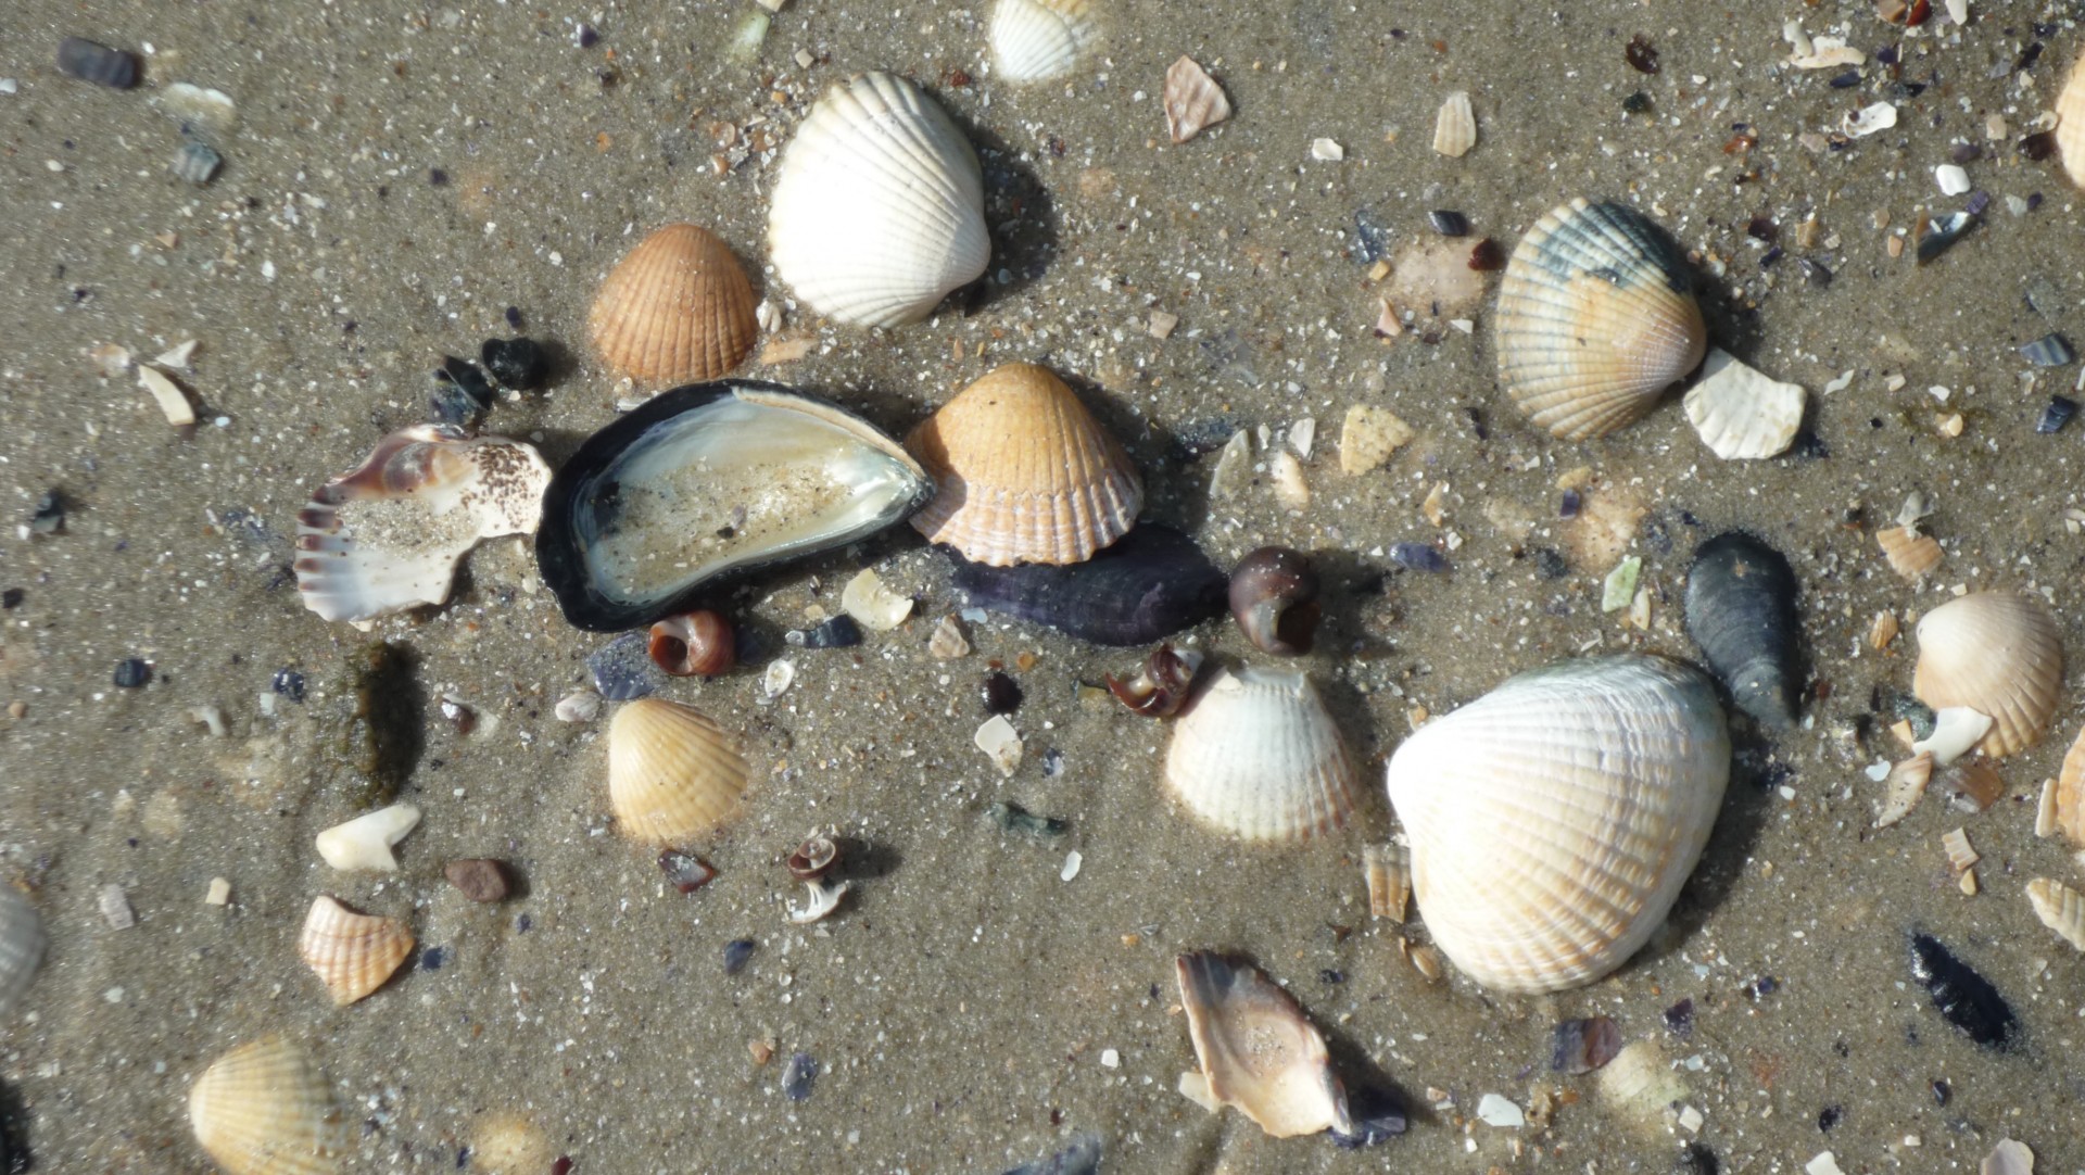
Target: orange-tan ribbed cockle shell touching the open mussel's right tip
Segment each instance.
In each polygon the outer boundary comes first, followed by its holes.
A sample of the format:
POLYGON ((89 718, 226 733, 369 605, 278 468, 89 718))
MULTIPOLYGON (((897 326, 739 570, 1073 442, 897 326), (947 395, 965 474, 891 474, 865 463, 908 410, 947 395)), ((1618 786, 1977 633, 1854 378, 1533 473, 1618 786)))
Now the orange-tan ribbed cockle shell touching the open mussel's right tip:
POLYGON ((1136 525, 1145 483, 1078 396, 1032 362, 988 371, 905 438, 938 488, 911 525, 972 562, 1084 562, 1136 525))

